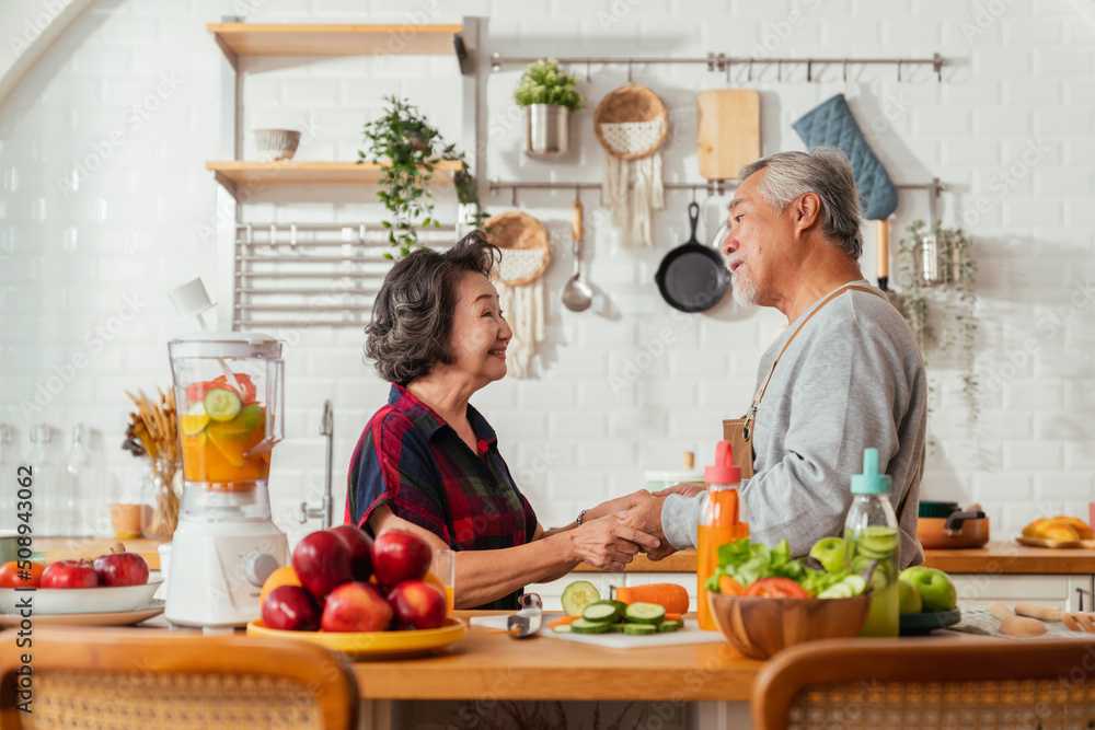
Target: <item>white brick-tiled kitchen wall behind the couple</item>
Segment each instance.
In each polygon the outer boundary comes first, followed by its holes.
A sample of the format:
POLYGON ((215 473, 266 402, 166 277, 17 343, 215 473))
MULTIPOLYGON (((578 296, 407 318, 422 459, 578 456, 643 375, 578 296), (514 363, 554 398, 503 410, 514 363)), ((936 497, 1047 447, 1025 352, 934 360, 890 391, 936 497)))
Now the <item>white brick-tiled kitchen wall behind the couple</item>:
MULTIPOLYGON (((239 4, 97 3, 0 107, 0 422, 14 428, 16 455, 28 450, 30 426, 46 421, 56 429, 51 445, 60 460, 71 426, 83 421, 102 450, 96 457, 103 477, 115 488, 131 483, 136 462, 118 449, 127 412, 123 391, 165 385, 164 343, 191 328, 175 321, 162 292, 194 276, 204 277, 211 292, 221 288, 216 244, 201 228, 217 219, 215 183, 203 165, 230 147, 219 136, 222 60, 204 24, 233 14, 239 4), (148 95, 163 74, 181 82, 152 109, 148 95), (135 105, 142 116, 134 116, 135 105), (120 143, 103 147, 115 130, 120 143), (79 187, 66 189, 61 182, 74 176, 79 187), (107 326, 127 296, 146 305, 94 348, 95 327, 107 326), (84 355, 89 364, 41 410, 24 416, 20 402, 33 403, 36 385, 73 354, 84 355)), ((852 108, 890 174, 899 182, 938 176, 948 183, 953 192, 944 196, 942 213, 950 222, 965 217, 981 252, 978 358, 982 380, 992 380, 995 392, 986 394, 983 418, 970 430, 956 373, 933 368, 936 447, 923 495, 979 500, 1001 537, 1037 513, 1067 509, 1086 515, 1086 503, 1095 498, 1090 395, 1095 320, 1092 302, 1081 299, 1074 285, 1095 275, 1090 199, 1095 28, 1068 0, 996 3, 1005 9, 995 15, 986 15, 973 0, 250 4, 256 9, 249 18, 256 22, 399 21, 420 9, 437 22, 484 14, 486 53, 721 50, 760 59, 938 50, 953 58, 942 86, 924 69, 906 69, 899 84, 890 68, 855 66, 848 83, 852 108), (792 25, 793 18, 802 22, 792 25), (984 27, 977 26, 978 18, 987 20, 984 27), (1001 174, 1030 143, 1049 151, 1034 165, 1019 162, 1017 182, 1001 189, 1001 174), (1046 324, 1050 313, 1059 317, 1054 326, 1046 324), (1038 352, 1016 364, 1028 338, 1038 352)), ((361 124, 379 111, 380 96, 391 93, 408 96, 448 138, 460 137, 459 76, 451 58, 249 58, 244 69, 245 128, 313 125, 316 136, 301 147, 301 160, 353 159, 361 124)), ((746 72, 735 67, 731 84, 749 85, 746 72)), ((839 67, 818 67, 815 73, 807 84, 804 68, 788 67, 784 83, 777 83, 773 67, 754 67, 751 85, 762 94, 765 153, 800 149, 791 121, 841 91, 839 67)), ((574 150, 563 162, 520 155, 510 100, 518 74, 506 68, 488 80, 488 170, 476 173, 599 181, 602 153, 588 111, 574 119, 574 150)), ((725 86, 724 76, 641 66, 634 74, 666 99, 680 132, 666 152, 666 179, 699 179, 694 92, 725 86)), ((625 81, 622 67, 595 68, 583 90, 596 105, 625 81)), ((249 135, 245 154, 253 149, 249 135)), ((306 204, 255 206, 246 216, 355 222, 379 212, 368 195, 334 190, 327 199, 327 194, 316 192, 306 204)), ((521 207, 551 228, 556 244, 545 280, 549 340, 540 376, 492 385, 475 398, 498 427, 511 471, 546 525, 642 486, 644 470, 677 467, 684 450, 696 451, 701 464, 710 460, 719 420, 745 409, 757 361, 780 326, 774 312, 741 311, 728 302, 683 318, 661 302, 653 273, 688 234, 689 196, 675 192, 656 216, 653 250, 622 250, 597 196, 584 195, 587 274, 603 292, 598 302, 603 313, 563 310, 557 292, 570 271, 572 199, 568 193, 520 197, 521 207), (646 357, 666 327, 676 340, 646 357), (613 376, 630 384, 613 390, 613 376), (553 464, 533 468, 545 445, 553 464)), ((717 205, 701 202, 700 235, 707 237, 717 205)), ((507 209, 508 193, 486 204, 493 211, 507 209)), ((451 219, 451 198, 443 194, 440 210, 451 219)), ((926 212, 922 194, 903 192, 897 227, 926 212)), ((862 263, 873 273, 872 228, 866 236, 862 263)), ((277 520, 295 535, 300 534, 292 519, 296 502, 314 501, 321 488, 323 441, 316 431, 323 399, 333 398, 337 418, 334 483, 341 515, 350 452, 385 393, 360 361, 360 333, 303 329, 299 336, 288 352, 288 438, 276 452, 272 476, 277 520)))

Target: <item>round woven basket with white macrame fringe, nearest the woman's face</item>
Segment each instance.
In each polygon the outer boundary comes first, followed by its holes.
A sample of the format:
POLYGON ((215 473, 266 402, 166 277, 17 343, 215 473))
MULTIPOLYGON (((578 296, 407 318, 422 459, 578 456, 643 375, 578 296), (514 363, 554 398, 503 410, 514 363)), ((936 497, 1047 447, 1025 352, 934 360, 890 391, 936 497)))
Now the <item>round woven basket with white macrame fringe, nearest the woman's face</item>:
POLYGON ((506 350, 508 372, 529 378, 537 345, 544 339, 543 276, 551 260, 548 229, 532 216, 509 211, 491 217, 484 229, 487 241, 502 250, 495 286, 514 339, 506 350))

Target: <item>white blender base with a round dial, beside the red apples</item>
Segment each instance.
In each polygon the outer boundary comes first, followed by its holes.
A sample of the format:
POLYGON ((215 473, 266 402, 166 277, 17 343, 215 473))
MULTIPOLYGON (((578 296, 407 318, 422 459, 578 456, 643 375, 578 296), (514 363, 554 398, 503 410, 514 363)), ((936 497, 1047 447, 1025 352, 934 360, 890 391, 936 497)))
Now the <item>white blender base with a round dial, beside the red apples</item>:
POLYGON ((273 522, 180 520, 171 553, 164 617, 180 626, 228 628, 260 617, 263 583, 288 565, 289 540, 273 522))

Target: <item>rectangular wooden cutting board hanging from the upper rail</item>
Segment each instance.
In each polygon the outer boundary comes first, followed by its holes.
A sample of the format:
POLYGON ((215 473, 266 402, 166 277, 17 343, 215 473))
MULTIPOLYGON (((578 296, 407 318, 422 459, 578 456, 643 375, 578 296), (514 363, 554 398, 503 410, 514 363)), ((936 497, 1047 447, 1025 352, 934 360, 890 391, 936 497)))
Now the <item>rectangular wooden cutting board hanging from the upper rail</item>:
POLYGON ((754 89, 701 91, 700 174, 729 179, 760 157, 760 94, 754 89))

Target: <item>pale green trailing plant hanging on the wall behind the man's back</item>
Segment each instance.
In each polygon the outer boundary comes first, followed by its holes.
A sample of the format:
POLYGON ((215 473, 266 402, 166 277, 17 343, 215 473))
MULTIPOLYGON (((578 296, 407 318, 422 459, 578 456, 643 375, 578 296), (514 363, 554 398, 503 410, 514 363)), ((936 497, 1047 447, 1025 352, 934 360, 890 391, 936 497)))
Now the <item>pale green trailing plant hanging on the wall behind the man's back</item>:
POLYGON ((958 367, 963 394, 969 409, 969 420, 976 424, 980 415, 979 383, 975 372, 973 346, 977 339, 977 263, 973 260, 973 242, 959 229, 934 228, 913 221, 907 235, 898 245, 897 294, 898 306, 917 336, 924 364, 929 354, 938 350, 958 367), (943 282, 926 286, 921 277, 922 241, 934 233, 938 242, 938 258, 944 273, 943 282), (930 306, 934 303, 935 306, 930 306), (933 310, 940 327, 932 324, 933 310))

